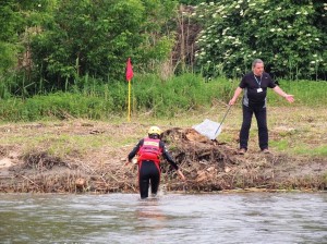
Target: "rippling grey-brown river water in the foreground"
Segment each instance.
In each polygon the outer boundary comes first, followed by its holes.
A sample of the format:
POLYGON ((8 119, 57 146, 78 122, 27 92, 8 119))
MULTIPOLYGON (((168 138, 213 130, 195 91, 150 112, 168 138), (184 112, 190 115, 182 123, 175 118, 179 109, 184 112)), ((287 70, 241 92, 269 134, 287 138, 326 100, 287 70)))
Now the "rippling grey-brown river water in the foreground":
POLYGON ((0 194, 0 243, 327 243, 327 194, 0 194))

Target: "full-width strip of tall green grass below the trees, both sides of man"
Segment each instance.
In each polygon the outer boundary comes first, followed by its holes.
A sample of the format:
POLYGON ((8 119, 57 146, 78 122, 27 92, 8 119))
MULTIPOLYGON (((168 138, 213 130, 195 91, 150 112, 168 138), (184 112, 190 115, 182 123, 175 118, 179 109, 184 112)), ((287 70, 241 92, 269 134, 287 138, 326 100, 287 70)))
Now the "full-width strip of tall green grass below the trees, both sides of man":
MULTIPOLYGON (((126 82, 109 85, 87 76, 81 82, 83 89, 72 86, 66 93, 1 100, 0 119, 2 121, 71 118, 108 120, 128 114, 126 82)), ((165 82, 157 75, 137 75, 132 82, 132 114, 146 113, 149 117, 172 118, 177 114, 207 111, 218 103, 217 110, 225 109, 238 85, 239 81, 226 78, 206 83, 194 74, 174 76, 165 82)), ((327 102, 326 82, 280 81, 280 86, 295 96, 296 102, 292 106, 324 106, 327 102)), ((271 90, 268 93, 268 100, 269 106, 289 106, 271 90)))

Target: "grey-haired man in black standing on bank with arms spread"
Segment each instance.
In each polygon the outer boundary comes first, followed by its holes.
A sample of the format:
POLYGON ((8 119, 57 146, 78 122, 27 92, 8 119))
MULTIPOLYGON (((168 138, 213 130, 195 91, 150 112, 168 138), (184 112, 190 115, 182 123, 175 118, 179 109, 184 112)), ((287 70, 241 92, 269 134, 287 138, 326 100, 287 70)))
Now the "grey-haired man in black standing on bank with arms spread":
POLYGON ((293 102, 293 95, 286 94, 268 73, 264 71, 264 62, 256 59, 252 63, 252 72, 245 74, 234 91, 234 96, 229 101, 232 106, 238 97, 244 90, 242 100, 243 122, 240 131, 240 155, 247 150, 249 132, 251 127, 252 115, 254 113, 258 127, 258 143, 263 152, 269 154, 268 149, 268 127, 267 127, 267 88, 274 89, 275 93, 293 102))

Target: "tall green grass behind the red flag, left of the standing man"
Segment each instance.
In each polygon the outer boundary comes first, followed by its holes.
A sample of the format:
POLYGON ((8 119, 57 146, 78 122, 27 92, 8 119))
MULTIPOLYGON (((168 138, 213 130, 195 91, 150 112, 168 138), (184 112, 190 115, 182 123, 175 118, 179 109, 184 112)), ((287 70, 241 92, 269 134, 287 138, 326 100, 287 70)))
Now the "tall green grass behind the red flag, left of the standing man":
MULTIPOLYGON (((132 89, 133 113, 150 112, 154 117, 173 115, 210 106, 213 99, 228 99, 230 83, 204 83, 193 74, 160 82, 156 75, 135 77, 132 89), (218 88, 219 87, 219 88, 218 88), (227 88, 229 87, 229 88, 227 88), (218 88, 218 93, 217 93, 218 88), (201 93, 199 93, 201 90, 201 93)), ((122 115, 128 109, 128 83, 100 84, 84 78, 83 89, 71 87, 65 93, 36 95, 27 99, 0 102, 0 118, 9 121, 34 121, 45 118, 107 119, 122 115)))

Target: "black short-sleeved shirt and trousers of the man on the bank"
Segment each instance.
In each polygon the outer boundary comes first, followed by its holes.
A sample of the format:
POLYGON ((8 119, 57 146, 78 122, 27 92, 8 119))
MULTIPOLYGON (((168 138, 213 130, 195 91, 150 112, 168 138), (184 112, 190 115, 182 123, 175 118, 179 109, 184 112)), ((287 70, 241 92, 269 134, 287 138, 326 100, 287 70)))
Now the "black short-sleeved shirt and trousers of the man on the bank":
POLYGON ((240 148, 247 150, 249 131, 253 113, 255 114, 258 127, 258 141, 261 149, 268 148, 267 127, 267 88, 275 88, 276 84, 268 73, 262 76, 254 75, 253 72, 244 75, 240 83, 240 88, 244 90, 243 96, 243 123, 240 132, 240 148))

